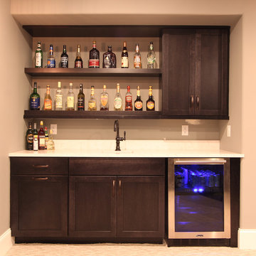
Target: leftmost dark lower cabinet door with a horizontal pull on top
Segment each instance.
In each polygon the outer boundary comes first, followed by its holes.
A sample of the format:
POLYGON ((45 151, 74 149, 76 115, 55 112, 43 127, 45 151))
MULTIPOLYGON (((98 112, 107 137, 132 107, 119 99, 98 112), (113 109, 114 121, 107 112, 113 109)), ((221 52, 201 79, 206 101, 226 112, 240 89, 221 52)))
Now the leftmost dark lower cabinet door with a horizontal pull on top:
POLYGON ((16 237, 68 235, 68 177, 11 176, 11 232, 16 237))

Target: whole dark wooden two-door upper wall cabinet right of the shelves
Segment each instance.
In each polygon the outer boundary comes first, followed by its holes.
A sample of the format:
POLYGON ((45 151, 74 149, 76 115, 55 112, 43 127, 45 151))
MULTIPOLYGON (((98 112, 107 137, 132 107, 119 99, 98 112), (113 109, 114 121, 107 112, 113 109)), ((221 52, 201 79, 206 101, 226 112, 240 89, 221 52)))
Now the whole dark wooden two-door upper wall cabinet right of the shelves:
POLYGON ((163 114, 228 119, 229 29, 165 29, 163 114))

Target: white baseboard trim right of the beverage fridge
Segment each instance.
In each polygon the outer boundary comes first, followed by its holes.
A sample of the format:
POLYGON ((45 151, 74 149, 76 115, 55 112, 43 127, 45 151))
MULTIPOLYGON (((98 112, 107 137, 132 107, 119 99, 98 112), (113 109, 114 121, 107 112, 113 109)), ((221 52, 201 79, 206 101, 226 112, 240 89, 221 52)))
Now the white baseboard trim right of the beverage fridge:
POLYGON ((238 230, 238 248, 242 250, 256 250, 256 229, 238 230))

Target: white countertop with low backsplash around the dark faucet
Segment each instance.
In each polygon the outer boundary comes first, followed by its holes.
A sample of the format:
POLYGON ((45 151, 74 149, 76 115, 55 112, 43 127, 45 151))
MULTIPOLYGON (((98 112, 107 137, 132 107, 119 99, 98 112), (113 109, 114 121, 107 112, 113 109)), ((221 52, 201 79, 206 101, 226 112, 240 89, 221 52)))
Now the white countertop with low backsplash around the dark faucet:
POLYGON ((55 150, 21 150, 9 156, 21 157, 244 157, 244 154, 220 149, 219 141, 143 140, 120 142, 115 151, 114 140, 55 140, 55 150))

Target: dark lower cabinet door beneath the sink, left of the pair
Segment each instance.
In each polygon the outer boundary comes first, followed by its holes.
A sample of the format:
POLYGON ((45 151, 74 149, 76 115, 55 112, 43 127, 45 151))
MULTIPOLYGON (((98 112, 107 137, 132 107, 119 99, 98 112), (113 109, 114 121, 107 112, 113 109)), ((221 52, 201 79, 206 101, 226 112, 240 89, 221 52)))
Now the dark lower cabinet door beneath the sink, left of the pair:
POLYGON ((116 176, 70 176, 70 237, 116 235, 116 183, 116 176))

